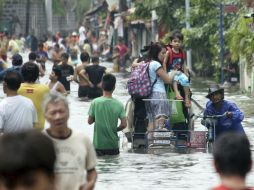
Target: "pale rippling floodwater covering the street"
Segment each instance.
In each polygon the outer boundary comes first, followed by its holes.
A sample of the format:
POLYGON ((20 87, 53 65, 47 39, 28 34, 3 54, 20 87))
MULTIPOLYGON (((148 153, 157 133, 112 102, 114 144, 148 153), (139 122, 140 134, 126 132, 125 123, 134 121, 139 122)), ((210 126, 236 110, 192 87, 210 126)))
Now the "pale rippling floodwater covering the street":
MULTIPOLYGON (((25 59, 26 60, 26 59, 25 59)), ((103 63, 103 66, 112 67, 111 63, 103 63)), ((48 80, 52 65, 47 62, 47 74, 40 81, 48 80)), ((110 69, 109 69, 110 70, 110 69)), ((117 74, 117 86, 114 97, 123 104, 129 99, 126 89, 126 74, 117 74)), ((204 80, 203 80, 204 81, 204 80)), ((207 99, 207 86, 205 83, 192 81, 193 98, 202 106, 207 99)), ((2 84, 0 97, 3 98, 2 84)), ((87 124, 88 109, 90 102, 80 101, 78 98, 78 85, 71 84, 71 94, 68 96, 70 102, 69 127, 88 134, 93 137, 93 126, 87 124)), ((247 136, 254 145, 254 101, 253 98, 239 93, 226 93, 225 98, 233 100, 244 112, 243 122, 247 136)), ((196 112, 200 112, 194 105, 196 112)), ((48 126, 48 124, 47 124, 48 126)), ((205 130, 200 121, 195 122, 196 130, 205 130)), ((118 157, 105 157, 98 159, 98 179, 95 190, 164 190, 164 189, 211 189, 219 184, 219 178, 215 174, 212 165, 212 156, 205 152, 195 153, 132 153, 122 147, 123 133, 119 132, 121 138, 121 153, 118 157)), ((128 145, 130 147, 130 145, 128 145)), ((252 147, 254 150, 254 148, 252 147)), ((253 152, 254 154, 254 152, 253 152)), ((252 156, 254 158, 254 155, 252 156)), ((248 185, 254 186, 254 169, 247 177, 248 185)))

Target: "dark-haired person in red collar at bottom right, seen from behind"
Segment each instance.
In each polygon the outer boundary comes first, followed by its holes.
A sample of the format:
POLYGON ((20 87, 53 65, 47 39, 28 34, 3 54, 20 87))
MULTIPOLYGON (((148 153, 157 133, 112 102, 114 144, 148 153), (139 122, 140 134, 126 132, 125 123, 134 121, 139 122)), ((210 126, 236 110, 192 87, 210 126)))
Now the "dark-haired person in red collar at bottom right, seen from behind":
POLYGON ((246 187, 245 178, 251 170, 250 142, 246 135, 225 133, 214 144, 214 166, 221 185, 213 190, 253 190, 246 187))

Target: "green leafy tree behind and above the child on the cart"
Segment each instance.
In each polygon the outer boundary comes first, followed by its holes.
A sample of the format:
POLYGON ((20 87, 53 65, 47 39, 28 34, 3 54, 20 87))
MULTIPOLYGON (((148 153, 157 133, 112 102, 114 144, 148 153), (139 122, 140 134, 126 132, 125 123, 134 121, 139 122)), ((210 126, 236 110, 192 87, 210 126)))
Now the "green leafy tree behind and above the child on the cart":
MULTIPOLYGON (((150 18, 150 11, 155 9, 159 22, 166 26, 167 30, 182 29, 185 36, 186 48, 191 48, 193 53, 193 68, 197 73, 204 75, 216 75, 220 62, 220 36, 219 36, 219 2, 220 0, 191 0, 191 29, 185 29, 185 1, 184 0, 143 0, 136 2, 137 16, 150 18), (173 27, 172 27, 173 26, 173 27), (211 72, 212 71, 212 72, 211 72)), ((225 4, 236 4, 234 0, 222 0, 225 4)), ((224 13, 223 30, 227 38, 228 30, 237 20, 238 14, 224 13)), ((169 34, 167 35, 167 37, 169 34)), ((164 42, 168 42, 168 38, 164 42)), ((226 41, 225 49, 228 48, 226 41)), ((218 75, 218 74, 217 74, 218 75)))

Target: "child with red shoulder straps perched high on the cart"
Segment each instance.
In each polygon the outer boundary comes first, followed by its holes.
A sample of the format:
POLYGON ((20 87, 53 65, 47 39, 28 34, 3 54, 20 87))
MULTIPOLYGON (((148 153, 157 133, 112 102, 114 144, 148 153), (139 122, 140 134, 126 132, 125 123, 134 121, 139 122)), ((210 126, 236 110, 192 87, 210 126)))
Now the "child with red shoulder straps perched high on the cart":
POLYGON ((163 69, 169 74, 173 70, 181 71, 180 75, 175 75, 173 81, 173 90, 177 100, 185 101, 186 107, 191 107, 190 101, 190 83, 188 79, 188 70, 186 68, 185 54, 181 49, 183 35, 176 31, 170 36, 170 44, 167 47, 167 52, 163 61, 163 69), (178 83, 183 86, 184 98, 178 90, 178 83))

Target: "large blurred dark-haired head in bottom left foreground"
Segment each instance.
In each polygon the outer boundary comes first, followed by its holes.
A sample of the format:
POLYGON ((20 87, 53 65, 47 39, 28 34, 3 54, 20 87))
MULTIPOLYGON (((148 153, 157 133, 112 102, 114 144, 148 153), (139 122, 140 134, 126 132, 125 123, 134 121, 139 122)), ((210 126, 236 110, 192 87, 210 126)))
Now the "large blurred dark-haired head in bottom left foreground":
POLYGON ((53 142, 36 130, 0 137, 1 190, 55 190, 53 142))

